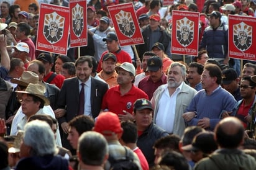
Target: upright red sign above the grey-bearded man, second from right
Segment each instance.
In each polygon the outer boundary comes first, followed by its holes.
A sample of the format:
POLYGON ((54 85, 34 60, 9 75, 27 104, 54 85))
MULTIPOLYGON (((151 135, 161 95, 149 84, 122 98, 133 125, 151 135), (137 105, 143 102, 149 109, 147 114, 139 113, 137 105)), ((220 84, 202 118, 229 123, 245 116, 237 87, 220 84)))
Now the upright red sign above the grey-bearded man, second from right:
POLYGON ((199 12, 172 11, 171 53, 198 56, 199 12))

